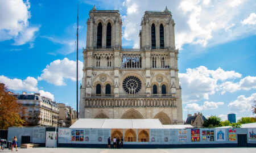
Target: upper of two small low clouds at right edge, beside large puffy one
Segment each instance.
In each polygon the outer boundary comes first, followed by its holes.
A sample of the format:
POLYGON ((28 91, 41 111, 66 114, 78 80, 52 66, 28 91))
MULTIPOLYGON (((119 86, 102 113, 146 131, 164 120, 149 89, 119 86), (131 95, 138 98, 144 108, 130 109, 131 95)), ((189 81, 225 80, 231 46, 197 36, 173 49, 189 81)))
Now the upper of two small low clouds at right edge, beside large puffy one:
POLYGON ((235 92, 238 90, 251 90, 256 88, 256 76, 246 76, 241 79, 240 82, 224 82, 219 86, 221 94, 225 94, 226 91, 235 92))

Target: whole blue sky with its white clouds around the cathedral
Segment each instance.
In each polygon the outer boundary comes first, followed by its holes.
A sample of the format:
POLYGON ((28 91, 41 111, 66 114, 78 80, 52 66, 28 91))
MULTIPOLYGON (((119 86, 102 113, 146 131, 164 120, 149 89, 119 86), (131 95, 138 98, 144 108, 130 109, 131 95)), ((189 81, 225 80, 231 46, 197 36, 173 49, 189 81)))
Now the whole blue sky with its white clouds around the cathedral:
POLYGON ((119 10, 122 46, 139 48, 144 11, 175 21, 183 119, 202 112, 227 120, 255 117, 256 2, 253 0, 22 1, 0 0, 0 82, 15 93, 40 93, 76 108, 76 27, 79 4, 79 84, 89 11, 119 10))

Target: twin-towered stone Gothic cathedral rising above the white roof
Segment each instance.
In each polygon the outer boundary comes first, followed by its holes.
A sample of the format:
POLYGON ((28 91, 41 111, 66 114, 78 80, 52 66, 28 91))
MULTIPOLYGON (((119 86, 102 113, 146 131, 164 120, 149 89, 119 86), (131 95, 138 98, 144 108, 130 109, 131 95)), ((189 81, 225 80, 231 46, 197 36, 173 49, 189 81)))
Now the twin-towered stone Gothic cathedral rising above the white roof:
POLYGON ((171 12, 146 11, 138 49, 122 48, 118 10, 97 10, 87 20, 80 118, 158 118, 183 124, 181 87, 171 12))

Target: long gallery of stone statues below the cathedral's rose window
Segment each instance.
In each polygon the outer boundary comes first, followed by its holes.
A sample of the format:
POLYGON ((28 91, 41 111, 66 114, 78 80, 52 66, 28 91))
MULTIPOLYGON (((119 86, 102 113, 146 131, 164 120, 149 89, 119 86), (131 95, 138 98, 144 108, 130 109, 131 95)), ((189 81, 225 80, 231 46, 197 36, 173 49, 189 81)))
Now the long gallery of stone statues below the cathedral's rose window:
POLYGON ((85 107, 177 107, 177 100, 174 97, 161 98, 129 98, 122 97, 115 98, 84 98, 85 107))

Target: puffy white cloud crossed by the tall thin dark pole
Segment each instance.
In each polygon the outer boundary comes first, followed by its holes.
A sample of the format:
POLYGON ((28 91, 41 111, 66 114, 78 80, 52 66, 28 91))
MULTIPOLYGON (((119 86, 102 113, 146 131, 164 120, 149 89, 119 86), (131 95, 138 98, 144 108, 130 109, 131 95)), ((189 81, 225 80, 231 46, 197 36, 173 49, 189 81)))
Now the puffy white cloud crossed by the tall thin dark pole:
MULTIPOLYGON (((79 61, 79 80, 82 78, 83 63, 79 61)), ((56 86, 64 86, 64 79, 76 80, 76 61, 57 59, 46 66, 38 80, 46 80, 56 86)))

